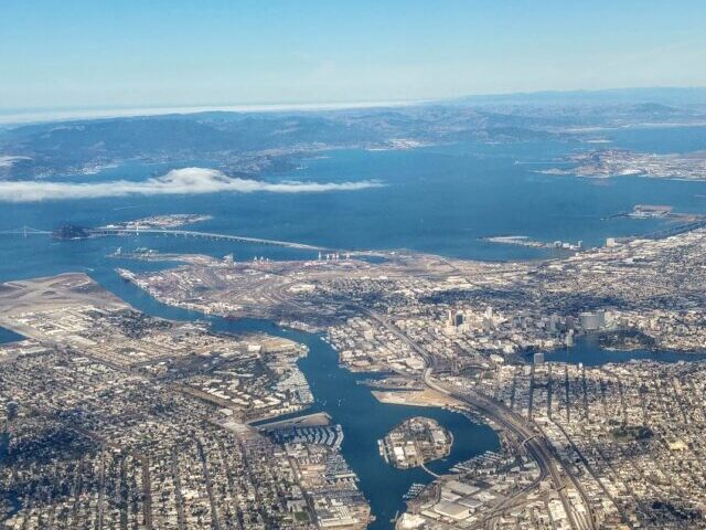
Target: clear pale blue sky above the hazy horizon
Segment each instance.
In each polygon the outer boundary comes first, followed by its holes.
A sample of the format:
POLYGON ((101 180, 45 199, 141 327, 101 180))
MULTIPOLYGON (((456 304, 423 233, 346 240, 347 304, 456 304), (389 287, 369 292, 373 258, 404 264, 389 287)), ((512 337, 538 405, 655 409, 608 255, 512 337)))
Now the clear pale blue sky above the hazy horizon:
POLYGON ((705 1, 0 1, 0 109, 706 86, 705 1))

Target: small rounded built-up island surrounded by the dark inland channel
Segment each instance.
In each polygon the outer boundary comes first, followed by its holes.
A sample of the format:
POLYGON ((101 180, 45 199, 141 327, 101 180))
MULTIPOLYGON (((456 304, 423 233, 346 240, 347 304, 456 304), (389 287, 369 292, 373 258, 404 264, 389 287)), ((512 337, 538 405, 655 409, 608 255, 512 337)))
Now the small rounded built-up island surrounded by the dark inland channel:
POLYGON ((448 456, 453 436, 435 420, 415 416, 393 428, 378 444, 388 464, 406 469, 448 456))

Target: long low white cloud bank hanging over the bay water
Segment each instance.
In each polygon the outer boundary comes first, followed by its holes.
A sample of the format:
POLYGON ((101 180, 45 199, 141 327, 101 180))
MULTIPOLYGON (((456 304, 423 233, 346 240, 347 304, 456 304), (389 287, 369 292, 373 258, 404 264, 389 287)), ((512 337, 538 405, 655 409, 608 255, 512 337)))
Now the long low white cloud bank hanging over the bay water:
POLYGON ((356 182, 263 182, 231 178, 216 169, 183 168, 162 177, 143 181, 113 180, 107 182, 0 181, 0 201, 36 202, 45 200, 99 199, 126 195, 175 195, 196 193, 321 193, 379 188, 376 181, 356 182))

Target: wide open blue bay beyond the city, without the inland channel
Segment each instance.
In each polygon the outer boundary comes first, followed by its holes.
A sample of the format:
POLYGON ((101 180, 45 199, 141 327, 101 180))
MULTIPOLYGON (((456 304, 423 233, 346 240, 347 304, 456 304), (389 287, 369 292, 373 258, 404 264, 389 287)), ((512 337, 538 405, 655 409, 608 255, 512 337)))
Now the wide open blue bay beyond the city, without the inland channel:
MULTIPOLYGON (((706 128, 607 131, 614 141, 601 147, 643 150, 706 149, 706 128), (680 147, 681 146, 681 147, 680 147), (684 147, 686 146, 686 147, 684 147), (659 148, 659 149, 657 149, 659 148), (688 148, 688 149, 687 149, 688 148)), ((453 145, 408 151, 332 151, 307 160, 301 170, 266 176, 268 180, 342 182, 377 180, 384 188, 308 194, 194 194, 46 201, 0 204, 0 232, 29 225, 51 230, 64 221, 95 226, 160 213, 205 213, 195 225, 215 232, 311 243, 340 248, 411 248, 480 259, 547 256, 546 251, 480 241, 489 235, 527 235, 541 241, 584 241, 600 245, 608 236, 641 234, 664 221, 606 218, 634 204, 671 204, 680 212, 706 212, 706 183, 617 178, 577 179, 541 174, 576 149, 596 146, 564 142, 453 145)), ((208 167, 208 160, 188 161, 208 167)), ((186 163, 186 162, 184 162, 186 163)), ((131 162, 82 180, 139 179, 160 174, 167 165, 131 162)), ((13 274, 22 257, 26 274, 74 269, 117 246, 154 246, 183 251, 183 242, 140 235, 94 242, 51 244, 0 235, 0 278, 13 274), (84 255, 92 254, 86 261, 84 255), (78 257, 75 255, 78 254, 78 257)), ((189 248, 236 258, 309 257, 284 248, 190 241, 189 248)))

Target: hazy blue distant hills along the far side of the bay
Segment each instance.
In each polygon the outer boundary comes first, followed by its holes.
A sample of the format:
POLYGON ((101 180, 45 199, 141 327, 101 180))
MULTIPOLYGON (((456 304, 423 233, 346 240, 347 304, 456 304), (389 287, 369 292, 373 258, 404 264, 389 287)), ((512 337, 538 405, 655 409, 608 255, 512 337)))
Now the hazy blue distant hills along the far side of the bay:
POLYGON ((581 129, 643 124, 706 124, 706 88, 544 92, 397 107, 22 125, 0 129, 0 179, 74 174, 89 180, 98 169, 129 160, 175 166, 200 160, 228 174, 257 177, 338 148, 577 139, 581 129))

